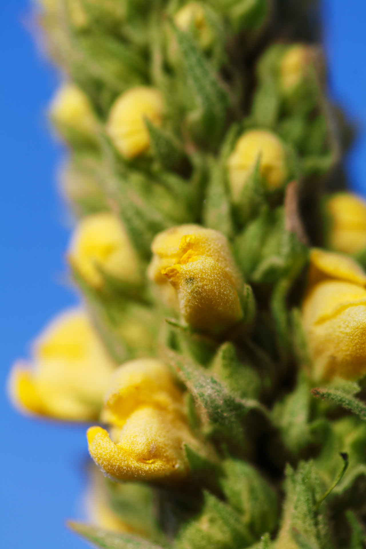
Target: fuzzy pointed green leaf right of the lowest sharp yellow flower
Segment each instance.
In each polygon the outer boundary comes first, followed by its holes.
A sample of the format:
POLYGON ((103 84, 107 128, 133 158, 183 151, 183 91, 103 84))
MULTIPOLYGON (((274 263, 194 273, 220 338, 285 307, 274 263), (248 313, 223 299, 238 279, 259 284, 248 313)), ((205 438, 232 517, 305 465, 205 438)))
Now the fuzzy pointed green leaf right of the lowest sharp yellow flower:
POLYGON ((257 410, 268 417, 266 408, 257 400, 238 399, 203 368, 170 349, 165 350, 165 355, 194 396, 206 423, 215 425, 240 442, 243 438, 241 419, 250 410, 257 410))

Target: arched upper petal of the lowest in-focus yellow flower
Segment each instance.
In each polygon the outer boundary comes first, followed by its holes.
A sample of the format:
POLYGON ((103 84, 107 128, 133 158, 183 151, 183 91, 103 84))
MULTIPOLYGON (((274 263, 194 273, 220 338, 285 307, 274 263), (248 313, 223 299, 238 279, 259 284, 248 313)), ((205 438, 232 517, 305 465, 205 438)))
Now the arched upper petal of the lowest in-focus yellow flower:
POLYGON ((156 358, 125 362, 111 377, 103 418, 122 427, 133 411, 147 405, 182 414, 182 391, 164 362, 156 358))

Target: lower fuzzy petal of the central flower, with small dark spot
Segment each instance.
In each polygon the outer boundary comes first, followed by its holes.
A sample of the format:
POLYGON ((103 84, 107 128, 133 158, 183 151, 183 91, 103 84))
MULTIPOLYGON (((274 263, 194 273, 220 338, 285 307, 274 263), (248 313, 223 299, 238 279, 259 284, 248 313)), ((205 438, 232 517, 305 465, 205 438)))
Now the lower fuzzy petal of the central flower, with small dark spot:
POLYGON ((203 333, 226 332, 243 318, 238 291, 227 271, 205 256, 163 271, 178 293, 185 322, 203 333))

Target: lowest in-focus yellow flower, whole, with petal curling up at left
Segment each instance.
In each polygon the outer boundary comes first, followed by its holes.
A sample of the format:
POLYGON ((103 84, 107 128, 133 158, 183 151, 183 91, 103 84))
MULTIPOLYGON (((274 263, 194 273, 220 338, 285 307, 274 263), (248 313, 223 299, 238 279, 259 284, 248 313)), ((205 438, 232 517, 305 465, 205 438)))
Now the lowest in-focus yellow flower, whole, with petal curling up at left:
POLYGON ((167 366, 155 359, 122 365, 106 394, 101 427, 88 429, 89 452, 119 480, 181 479, 188 474, 184 443, 197 448, 182 408, 182 393, 167 366))

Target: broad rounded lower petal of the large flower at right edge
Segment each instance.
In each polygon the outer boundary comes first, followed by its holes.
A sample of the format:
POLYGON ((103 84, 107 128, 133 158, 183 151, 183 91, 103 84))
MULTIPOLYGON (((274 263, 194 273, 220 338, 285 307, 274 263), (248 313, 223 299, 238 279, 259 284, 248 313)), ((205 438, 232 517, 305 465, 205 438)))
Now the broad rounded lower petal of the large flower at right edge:
POLYGON ((366 373, 366 290, 325 280, 314 285, 303 305, 303 326, 314 378, 359 379, 366 373))

